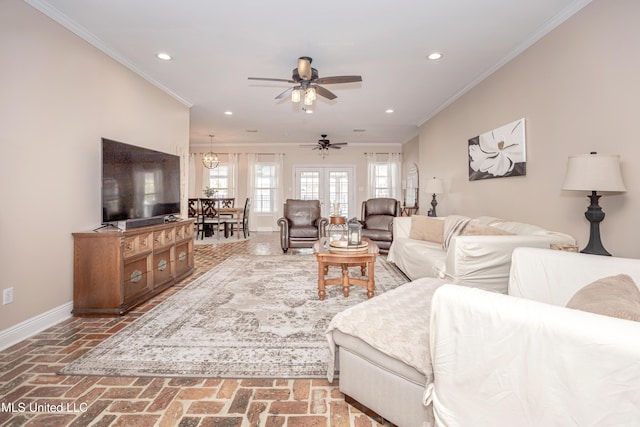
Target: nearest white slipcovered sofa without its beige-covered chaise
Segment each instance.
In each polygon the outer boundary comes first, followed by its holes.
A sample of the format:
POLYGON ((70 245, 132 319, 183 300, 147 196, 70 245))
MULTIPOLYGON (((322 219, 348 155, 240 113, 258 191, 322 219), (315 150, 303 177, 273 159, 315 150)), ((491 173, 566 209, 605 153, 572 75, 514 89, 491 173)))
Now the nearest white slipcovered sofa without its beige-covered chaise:
POLYGON ((427 394, 436 425, 639 426, 640 322, 565 308, 619 273, 637 286, 640 260, 522 248, 509 296, 438 289, 427 394))

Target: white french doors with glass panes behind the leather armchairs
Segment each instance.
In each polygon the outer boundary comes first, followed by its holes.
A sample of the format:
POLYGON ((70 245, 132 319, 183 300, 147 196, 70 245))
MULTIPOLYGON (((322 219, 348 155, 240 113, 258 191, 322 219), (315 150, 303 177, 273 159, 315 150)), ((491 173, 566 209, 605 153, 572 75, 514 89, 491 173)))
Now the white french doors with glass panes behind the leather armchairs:
POLYGON ((356 216, 354 167, 296 166, 296 197, 320 200, 322 216, 356 216))

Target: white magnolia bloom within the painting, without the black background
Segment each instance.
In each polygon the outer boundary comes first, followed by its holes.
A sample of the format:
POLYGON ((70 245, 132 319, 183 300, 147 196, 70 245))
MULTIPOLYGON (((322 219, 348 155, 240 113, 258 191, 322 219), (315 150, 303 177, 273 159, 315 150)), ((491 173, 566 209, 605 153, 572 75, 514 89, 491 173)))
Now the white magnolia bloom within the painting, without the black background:
POLYGON ((474 171, 504 176, 516 163, 525 161, 523 121, 510 123, 480 135, 478 145, 469 146, 469 166, 474 171))

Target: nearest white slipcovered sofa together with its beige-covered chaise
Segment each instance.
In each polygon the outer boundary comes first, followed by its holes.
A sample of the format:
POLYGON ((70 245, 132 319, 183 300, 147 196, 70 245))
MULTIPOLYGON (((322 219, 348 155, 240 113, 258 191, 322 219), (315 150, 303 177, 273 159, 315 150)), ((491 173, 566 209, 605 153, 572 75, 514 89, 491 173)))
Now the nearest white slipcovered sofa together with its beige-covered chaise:
POLYGON ((640 260, 518 248, 510 295, 415 280, 332 319, 328 378, 400 427, 640 425, 640 323, 564 308, 618 273, 640 260))

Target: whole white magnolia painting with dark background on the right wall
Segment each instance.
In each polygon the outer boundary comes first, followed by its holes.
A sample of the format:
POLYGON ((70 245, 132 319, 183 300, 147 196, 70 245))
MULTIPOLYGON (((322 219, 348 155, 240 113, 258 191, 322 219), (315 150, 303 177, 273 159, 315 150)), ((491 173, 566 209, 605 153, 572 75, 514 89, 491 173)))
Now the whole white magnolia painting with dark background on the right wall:
POLYGON ((527 174, 524 119, 469 140, 469 181, 527 174))

